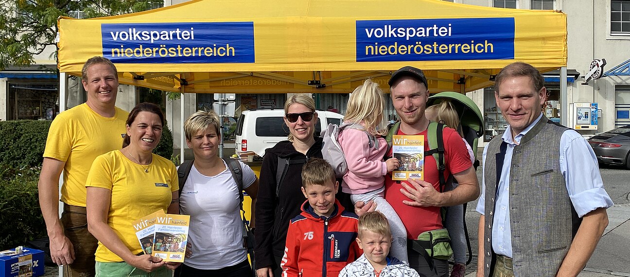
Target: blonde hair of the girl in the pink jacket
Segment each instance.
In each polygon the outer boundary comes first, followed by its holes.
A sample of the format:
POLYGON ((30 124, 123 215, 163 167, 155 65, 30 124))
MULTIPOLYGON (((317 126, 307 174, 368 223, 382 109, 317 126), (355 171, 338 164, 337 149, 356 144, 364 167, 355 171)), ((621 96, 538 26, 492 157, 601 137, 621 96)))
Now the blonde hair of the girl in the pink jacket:
POLYGON ((379 84, 367 79, 359 85, 348 99, 348 107, 343 121, 358 123, 363 121, 365 131, 372 135, 384 135, 383 109, 385 99, 379 84))

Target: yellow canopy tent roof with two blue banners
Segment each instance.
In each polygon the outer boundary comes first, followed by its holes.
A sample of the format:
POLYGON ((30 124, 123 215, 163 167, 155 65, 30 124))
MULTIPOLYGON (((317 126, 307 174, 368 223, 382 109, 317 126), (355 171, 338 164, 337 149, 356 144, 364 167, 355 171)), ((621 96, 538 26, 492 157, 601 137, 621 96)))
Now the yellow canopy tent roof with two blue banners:
POLYGON ((438 0, 192 0, 59 19, 59 69, 110 58, 122 84, 196 93, 347 93, 425 70, 432 92, 493 84, 508 63, 566 66, 566 16, 438 0))

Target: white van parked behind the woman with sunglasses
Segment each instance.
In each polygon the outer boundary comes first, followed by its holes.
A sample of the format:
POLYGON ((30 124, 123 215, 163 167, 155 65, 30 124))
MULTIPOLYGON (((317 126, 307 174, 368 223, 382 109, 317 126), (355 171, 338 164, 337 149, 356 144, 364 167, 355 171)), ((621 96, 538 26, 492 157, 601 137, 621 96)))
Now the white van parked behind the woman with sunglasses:
MULTIPOLYGON (((326 129, 328 123, 341 124, 343 115, 336 112, 317 111, 318 122, 315 134, 326 129)), ((258 156, 265 155, 265 149, 289 136, 289 127, 284 123, 284 109, 253 109, 243 111, 236 122, 236 151, 253 151, 258 156)))

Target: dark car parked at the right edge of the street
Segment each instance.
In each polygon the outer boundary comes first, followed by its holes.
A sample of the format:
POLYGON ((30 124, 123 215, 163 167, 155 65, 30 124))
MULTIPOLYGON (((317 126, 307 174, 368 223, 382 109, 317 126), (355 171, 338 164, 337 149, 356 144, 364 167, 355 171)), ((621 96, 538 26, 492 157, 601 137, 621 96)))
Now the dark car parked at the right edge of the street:
POLYGON ((624 165, 630 169, 630 125, 612 129, 588 139, 597 161, 605 165, 624 165))

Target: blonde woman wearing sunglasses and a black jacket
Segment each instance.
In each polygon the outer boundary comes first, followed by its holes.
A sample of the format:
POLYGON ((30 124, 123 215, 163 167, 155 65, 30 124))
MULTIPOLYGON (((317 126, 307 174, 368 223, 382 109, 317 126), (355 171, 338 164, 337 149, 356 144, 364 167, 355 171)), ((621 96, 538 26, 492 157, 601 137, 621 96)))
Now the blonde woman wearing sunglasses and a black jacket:
MULTIPOLYGON (((284 112, 289 138, 266 149, 260 170, 254 247, 258 277, 280 277, 289 220, 300 214, 304 202, 302 165, 309 158, 322 158, 322 139, 314 136, 318 115, 312 97, 292 95, 284 104, 284 112), (278 161, 285 166, 278 166, 278 161), (282 180, 279 184, 278 178, 282 180)), ((353 210, 352 205, 349 207, 353 210)))

